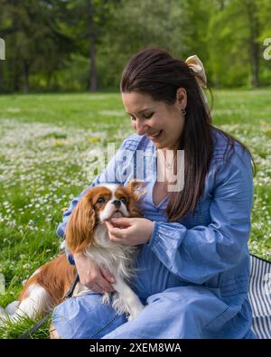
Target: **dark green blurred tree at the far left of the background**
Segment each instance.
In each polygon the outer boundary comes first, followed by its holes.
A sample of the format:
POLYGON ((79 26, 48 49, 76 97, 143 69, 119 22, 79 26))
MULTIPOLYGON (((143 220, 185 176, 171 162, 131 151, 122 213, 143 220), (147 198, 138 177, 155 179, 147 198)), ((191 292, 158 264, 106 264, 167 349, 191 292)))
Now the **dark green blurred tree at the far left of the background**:
POLYGON ((58 27, 61 1, 0 0, 3 9, 1 30, 9 49, 8 61, 14 70, 14 90, 29 92, 31 73, 48 78, 70 52, 70 39, 58 27))

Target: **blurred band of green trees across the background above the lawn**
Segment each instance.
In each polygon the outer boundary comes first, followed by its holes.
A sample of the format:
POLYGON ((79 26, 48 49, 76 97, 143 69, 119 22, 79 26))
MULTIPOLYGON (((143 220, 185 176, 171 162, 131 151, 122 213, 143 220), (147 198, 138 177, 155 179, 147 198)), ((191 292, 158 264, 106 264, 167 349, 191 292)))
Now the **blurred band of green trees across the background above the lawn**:
POLYGON ((0 0, 0 38, 0 93, 118 90, 148 45, 198 54, 213 88, 271 82, 270 0, 0 0))

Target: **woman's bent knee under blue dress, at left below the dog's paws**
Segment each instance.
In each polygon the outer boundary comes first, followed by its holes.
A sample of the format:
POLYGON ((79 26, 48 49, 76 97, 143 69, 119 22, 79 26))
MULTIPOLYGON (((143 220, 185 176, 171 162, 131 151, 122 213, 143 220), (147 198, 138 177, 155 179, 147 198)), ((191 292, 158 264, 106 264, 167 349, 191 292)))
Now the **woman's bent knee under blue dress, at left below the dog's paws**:
POLYGON ((102 304, 99 294, 70 297, 58 305, 52 315, 52 338, 91 339, 109 334, 126 323, 126 315, 117 315, 111 305, 102 304))

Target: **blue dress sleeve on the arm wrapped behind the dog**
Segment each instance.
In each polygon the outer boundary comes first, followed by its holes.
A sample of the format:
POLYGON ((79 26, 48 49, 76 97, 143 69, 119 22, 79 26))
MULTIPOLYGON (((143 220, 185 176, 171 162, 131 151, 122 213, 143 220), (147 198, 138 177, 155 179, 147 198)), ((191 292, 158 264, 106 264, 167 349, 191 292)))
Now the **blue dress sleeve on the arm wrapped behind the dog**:
MULTIPOLYGON (((122 183, 123 184, 123 182, 122 182, 122 178, 123 178, 122 163, 123 163, 124 155, 127 155, 127 151, 126 151, 127 140, 128 140, 128 138, 123 142, 123 144, 117 150, 116 155, 114 155, 114 157, 112 157, 112 159, 109 161, 109 163, 107 164, 107 167, 103 171, 103 173, 99 174, 96 177, 96 179, 93 181, 93 183, 91 183, 89 185, 89 187, 87 187, 82 193, 80 193, 79 196, 74 198, 72 200, 72 202, 70 203, 70 207, 68 208, 68 210, 63 213, 62 221, 58 225, 58 228, 56 230, 57 235, 59 237, 61 237, 62 240, 64 240, 64 238, 65 238, 64 235, 65 235, 67 222, 70 217, 70 213, 73 211, 73 209, 75 208, 75 206, 77 205, 79 200, 88 192, 89 188, 95 187, 100 183, 122 183)), ((130 156, 131 156, 132 152, 130 152, 128 154, 130 154, 130 156)), ((66 252, 67 258, 70 261, 70 264, 74 265, 75 264, 74 260, 73 260, 72 256, 70 255, 70 252, 67 249, 67 247, 65 247, 65 252, 66 252)))

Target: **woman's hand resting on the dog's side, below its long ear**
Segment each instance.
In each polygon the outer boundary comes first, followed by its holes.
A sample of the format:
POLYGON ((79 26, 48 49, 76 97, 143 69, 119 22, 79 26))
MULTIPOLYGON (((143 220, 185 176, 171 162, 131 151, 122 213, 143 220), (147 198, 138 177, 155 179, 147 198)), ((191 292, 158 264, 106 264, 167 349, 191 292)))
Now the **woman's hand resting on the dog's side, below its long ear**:
POLYGON ((115 291, 111 285, 115 282, 115 277, 106 268, 99 268, 95 261, 86 257, 83 253, 74 254, 73 259, 82 285, 99 294, 104 294, 106 291, 115 291))

